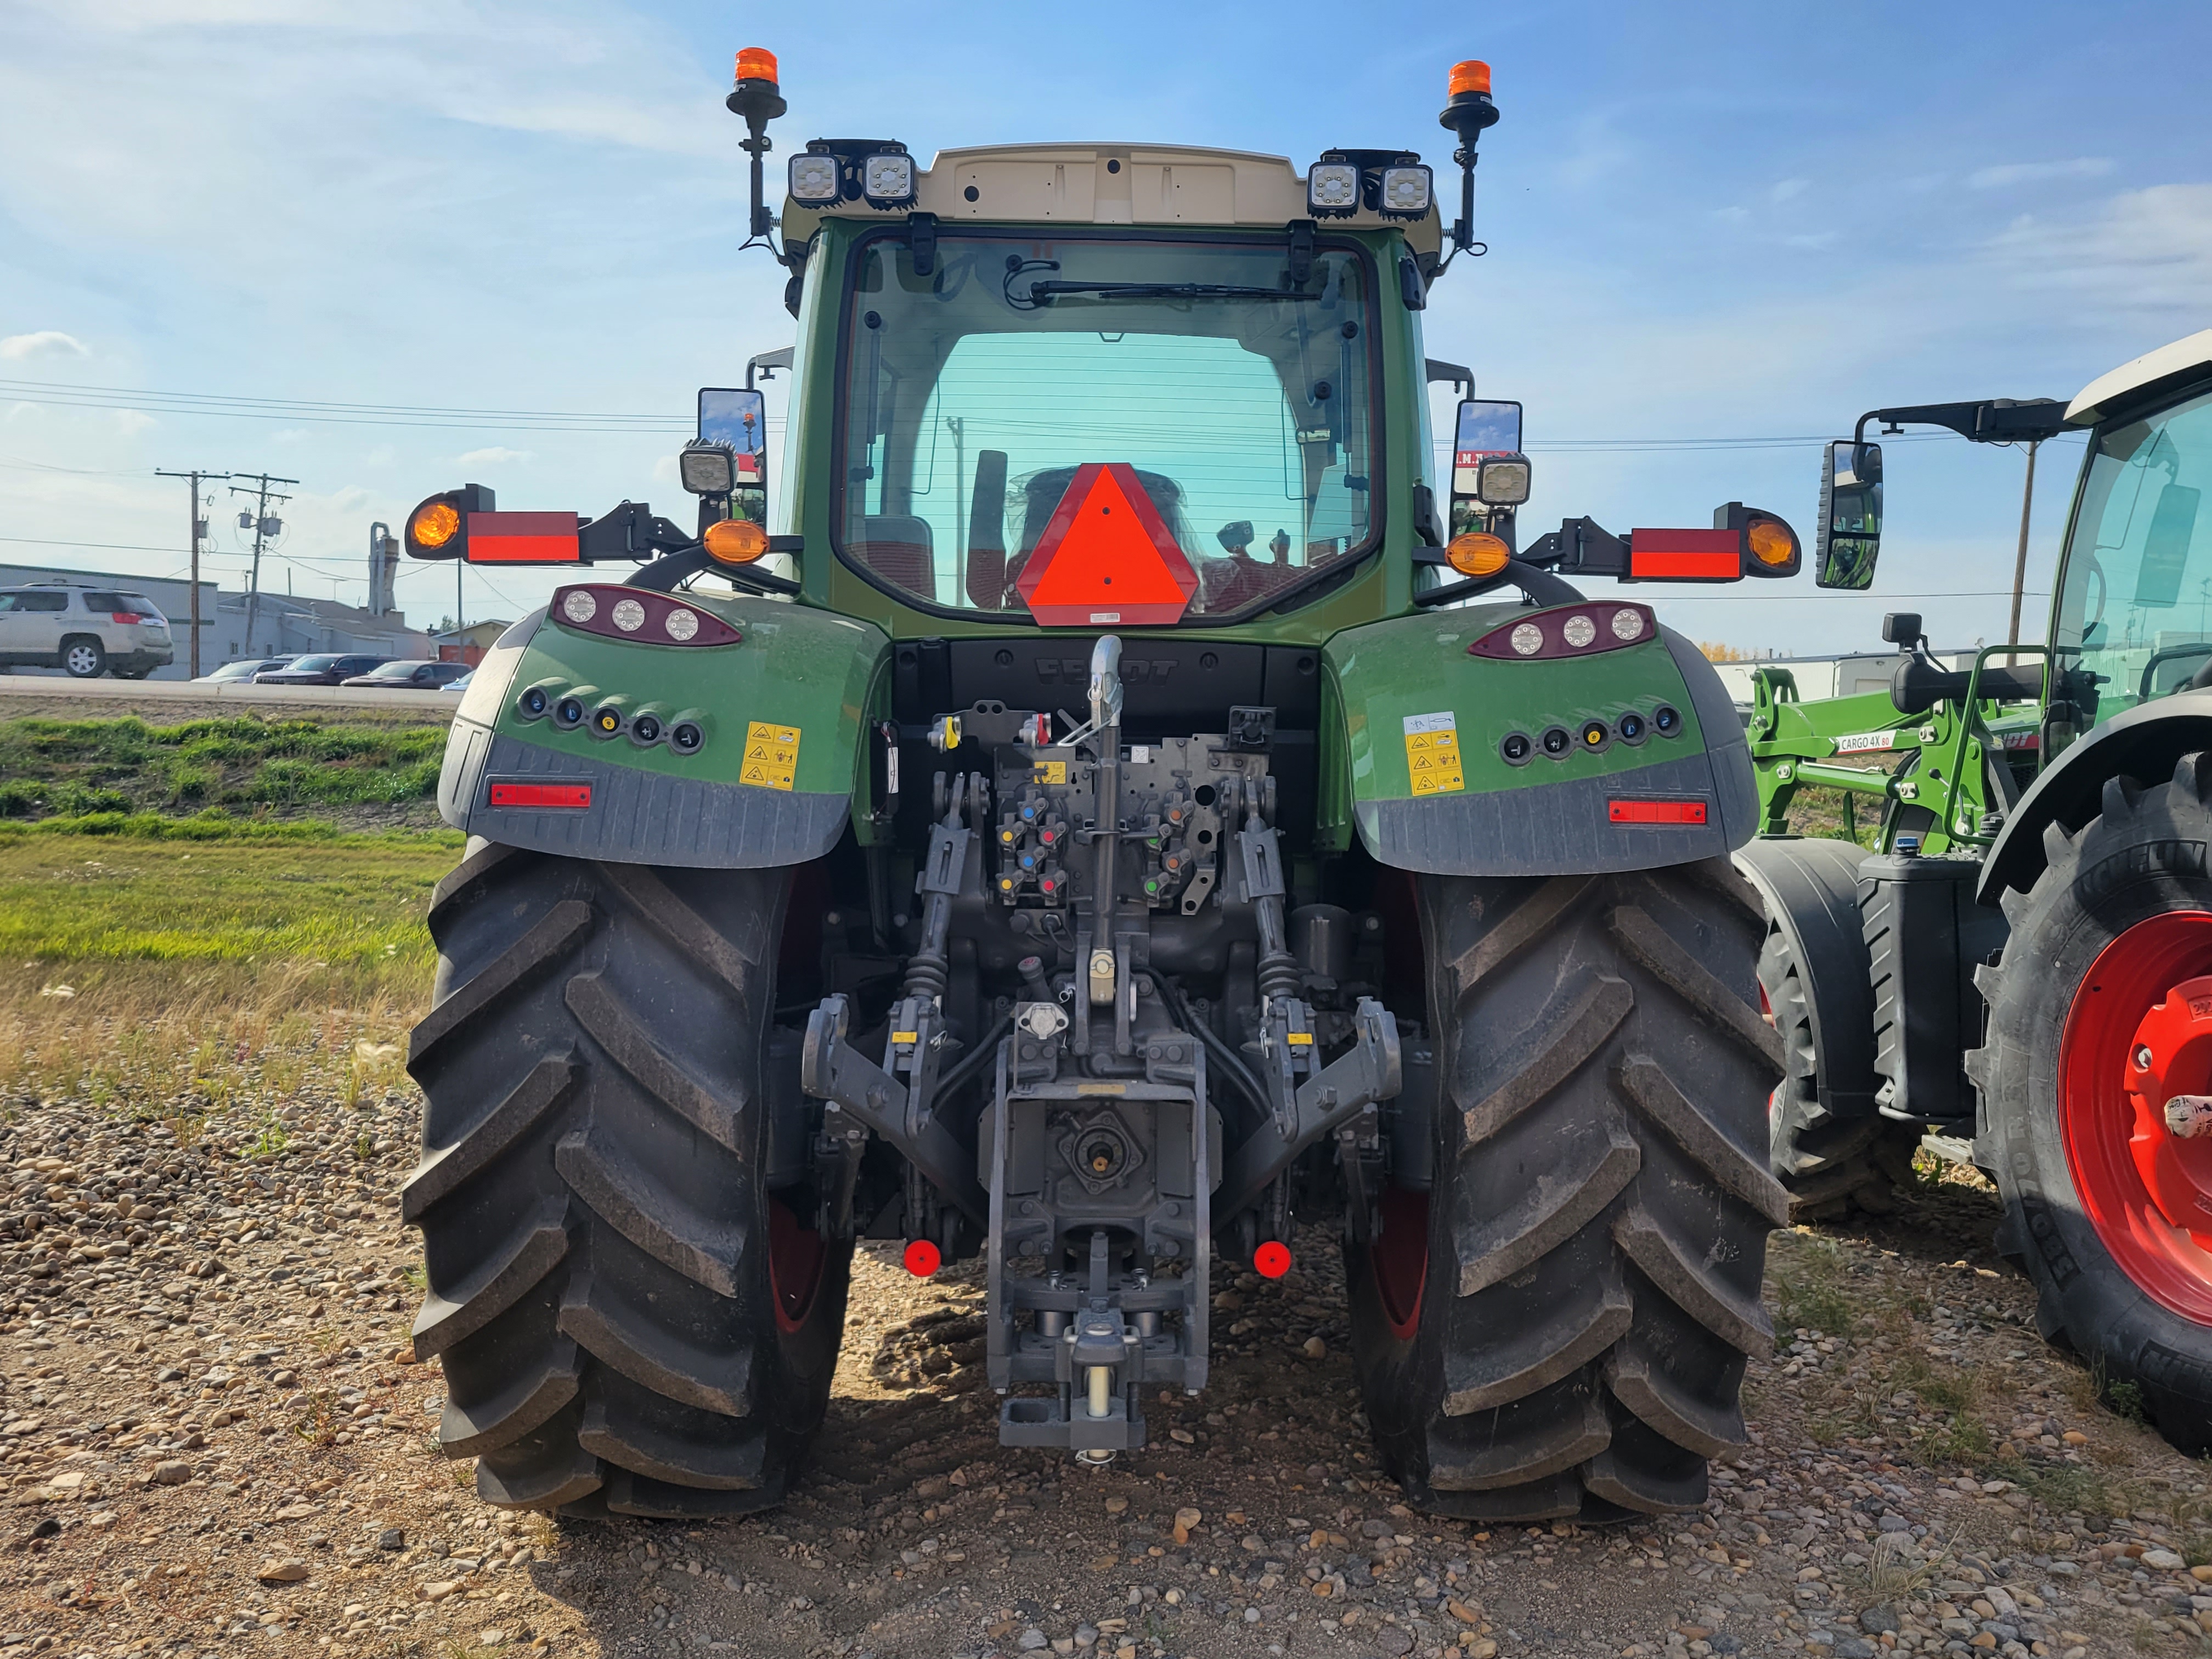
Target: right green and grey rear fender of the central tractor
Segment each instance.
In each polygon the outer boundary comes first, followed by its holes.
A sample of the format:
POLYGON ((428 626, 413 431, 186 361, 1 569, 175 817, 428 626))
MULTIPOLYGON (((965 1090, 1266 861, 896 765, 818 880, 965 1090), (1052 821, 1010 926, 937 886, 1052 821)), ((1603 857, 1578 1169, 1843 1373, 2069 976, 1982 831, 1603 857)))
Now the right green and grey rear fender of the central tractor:
MULTIPOLYGON (((1548 611, 1573 608, 1606 602, 1548 611)), ((1752 838, 1743 726, 1703 653, 1661 628, 1586 657, 1469 655, 1500 624, 1544 615, 1464 606, 1329 639, 1321 845, 1356 832, 1398 869, 1559 876, 1719 858, 1752 838), (1679 717, 1672 734, 1659 732, 1661 708, 1679 717), (1635 741, 1619 734, 1630 712, 1644 721, 1635 741), (1593 723, 1597 743, 1584 741, 1593 723), (1544 752, 1551 730, 1568 734, 1557 759, 1544 752), (1520 763, 1504 752, 1513 734, 1531 743, 1520 763)))

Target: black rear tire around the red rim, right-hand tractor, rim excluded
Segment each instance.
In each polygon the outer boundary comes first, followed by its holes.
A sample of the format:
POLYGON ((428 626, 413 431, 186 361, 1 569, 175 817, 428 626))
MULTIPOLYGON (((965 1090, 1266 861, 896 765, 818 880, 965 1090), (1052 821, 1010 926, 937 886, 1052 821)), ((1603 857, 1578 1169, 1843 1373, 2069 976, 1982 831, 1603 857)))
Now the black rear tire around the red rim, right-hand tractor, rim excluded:
POLYGON ((1982 1102, 1986 1164, 2028 1274, 2073 1345, 2093 1363, 2101 1356, 2112 1376, 2137 1380, 2168 1436, 2197 1418, 2192 1433, 2203 1440, 2212 1329, 2148 1296, 2097 1237, 2066 1157, 2059 1053, 2075 995, 2112 940, 2177 909, 2212 911, 2212 876, 2203 874, 2212 812, 2172 785, 2146 792, 2126 814, 2112 814, 2110 796, 2106 805, 2075 856, 2044 869, 2006 947, 1982 1102), (2194 852, 2177 860, 2166 852, 2177 845, 2194 852))

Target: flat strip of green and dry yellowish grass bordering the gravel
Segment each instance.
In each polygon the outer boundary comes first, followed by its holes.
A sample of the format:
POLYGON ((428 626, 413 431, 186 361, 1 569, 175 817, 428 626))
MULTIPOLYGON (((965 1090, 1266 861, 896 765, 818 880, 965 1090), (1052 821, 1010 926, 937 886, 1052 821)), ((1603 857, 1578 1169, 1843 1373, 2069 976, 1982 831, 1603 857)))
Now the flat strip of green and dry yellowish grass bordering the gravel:
POLYGON ((303 1091, 405 1086, 458 834, 131 823, 0 830, 0 1110, 80 1097, 274 1161, 303 1091))

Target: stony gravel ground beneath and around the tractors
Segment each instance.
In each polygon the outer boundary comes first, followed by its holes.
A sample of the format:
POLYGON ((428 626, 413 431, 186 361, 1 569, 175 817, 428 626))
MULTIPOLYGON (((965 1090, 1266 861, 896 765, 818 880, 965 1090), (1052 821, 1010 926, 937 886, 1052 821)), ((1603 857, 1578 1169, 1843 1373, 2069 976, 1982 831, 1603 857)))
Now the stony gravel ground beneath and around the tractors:
POLYGON ((223 1124, 9 1104, 0 1659, 2088 1659, 2212 1630, 2201 1471, 2035 1338, 1986 1188, 1776 1237, 1796 1334, 1752 1365, 1752 1444, 1692 1515, 1480 1531, 1398 1504, 1316 1232, 1287 1279, 1223 1287, 1217 1385, 1157 1402, 1159 1444, 1110 1469, 1002 1451, 973 1270, 918 1283, 872 1248, 787 1509, 551 1522, 478 1504, 429 1440, 392 1197, 414 1097, 223 1124))

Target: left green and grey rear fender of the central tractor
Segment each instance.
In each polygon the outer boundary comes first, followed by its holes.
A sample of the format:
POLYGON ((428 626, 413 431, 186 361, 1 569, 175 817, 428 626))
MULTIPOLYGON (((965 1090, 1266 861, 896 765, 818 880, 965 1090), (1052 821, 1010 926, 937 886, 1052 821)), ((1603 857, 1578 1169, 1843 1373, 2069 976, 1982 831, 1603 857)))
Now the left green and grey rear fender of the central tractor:
POLYGON ((500 635, 447 741, 445 821, 511 847, 639 865, 752 869, 830 852, 854 790, 867 787, 863 714, 889 641, 867 622, 779 599, 681 599, 739 639, 611 639, 544 611, 500 635), (553 712, 529 714, 533 686, 553 710, 577 697, 584 723, 564 730, 553 712), (595 730, 602 708, 617 712, 619 732, 595 730), (659 741, 637 741, 639 714, 659 721, 659 741), (703 734, 697 752, 670 743, 681 723, 703 734))

